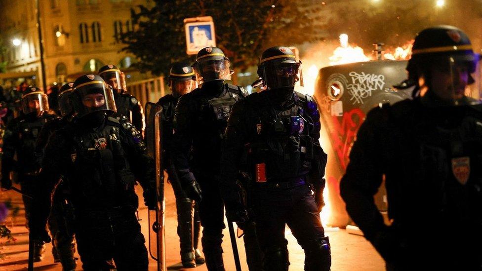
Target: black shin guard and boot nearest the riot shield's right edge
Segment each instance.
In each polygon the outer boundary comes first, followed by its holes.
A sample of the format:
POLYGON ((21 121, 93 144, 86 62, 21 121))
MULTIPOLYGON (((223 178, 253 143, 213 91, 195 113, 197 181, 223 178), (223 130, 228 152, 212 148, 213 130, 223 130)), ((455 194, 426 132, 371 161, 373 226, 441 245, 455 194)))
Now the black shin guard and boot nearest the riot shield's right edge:
POLYGON ((196 267, 193 249, 193 202, 189 198, 176 199, 177 234, 181 243, 181 262, 185 268, 196 267))

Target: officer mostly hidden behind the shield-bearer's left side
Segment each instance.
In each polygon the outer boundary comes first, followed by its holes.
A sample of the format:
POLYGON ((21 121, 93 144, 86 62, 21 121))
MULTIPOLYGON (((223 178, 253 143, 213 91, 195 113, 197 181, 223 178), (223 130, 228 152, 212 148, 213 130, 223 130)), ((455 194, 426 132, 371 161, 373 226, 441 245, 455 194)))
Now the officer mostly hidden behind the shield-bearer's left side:
MULTIPOLYGON (((36 144, 36 153, 43 156, 47 140, 55 131, 65 127, 74 116, 70 102, 74 82, 66 83, 59 89, 58 107, 61 118, 50 119, 40 130, 36 144)), ((63 177, 65 178, 65 177, 63 177)), ((62 264, 63 270, 75 270, 76 259, 74 241, 74 214, 68 186, 61 180, 52 195, 52 207, 48 218, 48 227, 52 236, 52 254, 55 262, 62 264)))

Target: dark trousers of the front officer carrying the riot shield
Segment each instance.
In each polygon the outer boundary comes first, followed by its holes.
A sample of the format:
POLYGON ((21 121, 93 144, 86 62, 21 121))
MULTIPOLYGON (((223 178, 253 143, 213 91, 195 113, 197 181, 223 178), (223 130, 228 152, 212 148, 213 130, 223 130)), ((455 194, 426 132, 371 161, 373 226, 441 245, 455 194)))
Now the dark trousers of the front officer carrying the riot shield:
POLYGON ((77 215, 77 248, 83 270, 148 270, 144 235, 134 210, 83 212, 77 215))

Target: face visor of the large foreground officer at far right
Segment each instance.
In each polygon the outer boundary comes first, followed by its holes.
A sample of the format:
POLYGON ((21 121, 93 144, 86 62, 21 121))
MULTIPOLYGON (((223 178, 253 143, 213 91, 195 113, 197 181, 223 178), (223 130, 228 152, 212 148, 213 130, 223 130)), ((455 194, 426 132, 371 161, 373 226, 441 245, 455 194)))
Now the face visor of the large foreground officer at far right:
POLYGON ((481 98, 481 71, 479 56, 450 56, 434 61, 431 66, 430 82, 419 81, 420 95, 430 90, 444 102, 465 105, 469 98, 481 98))

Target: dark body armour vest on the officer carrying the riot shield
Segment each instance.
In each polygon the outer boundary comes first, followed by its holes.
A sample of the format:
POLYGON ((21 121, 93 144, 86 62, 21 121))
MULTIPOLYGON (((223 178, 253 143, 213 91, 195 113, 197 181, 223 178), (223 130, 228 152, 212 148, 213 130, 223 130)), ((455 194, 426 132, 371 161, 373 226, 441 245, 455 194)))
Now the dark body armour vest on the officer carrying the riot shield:
POLYGON ((82 206, 115 207, 125 205, 126 197, 137 206, 134 194, 135 177, 122 149, 118 119, 108 117, 100 130, 80 132, 73 138, 71 166, 67 176, 73 191, 79 191, 82 206), (85 202, 87 201, 87 202, 85 202))

